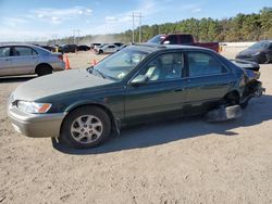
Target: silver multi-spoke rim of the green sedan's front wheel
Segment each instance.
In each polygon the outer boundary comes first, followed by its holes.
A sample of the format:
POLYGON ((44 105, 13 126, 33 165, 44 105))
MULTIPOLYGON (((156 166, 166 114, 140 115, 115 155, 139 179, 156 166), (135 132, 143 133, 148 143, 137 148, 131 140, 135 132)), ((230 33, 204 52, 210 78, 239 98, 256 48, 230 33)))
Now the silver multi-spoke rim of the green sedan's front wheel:
POLYGON ((79 143, 97 141, 103 132, 102 122, 94 115, 77 117, 71 125, 71 135, 79 143))

